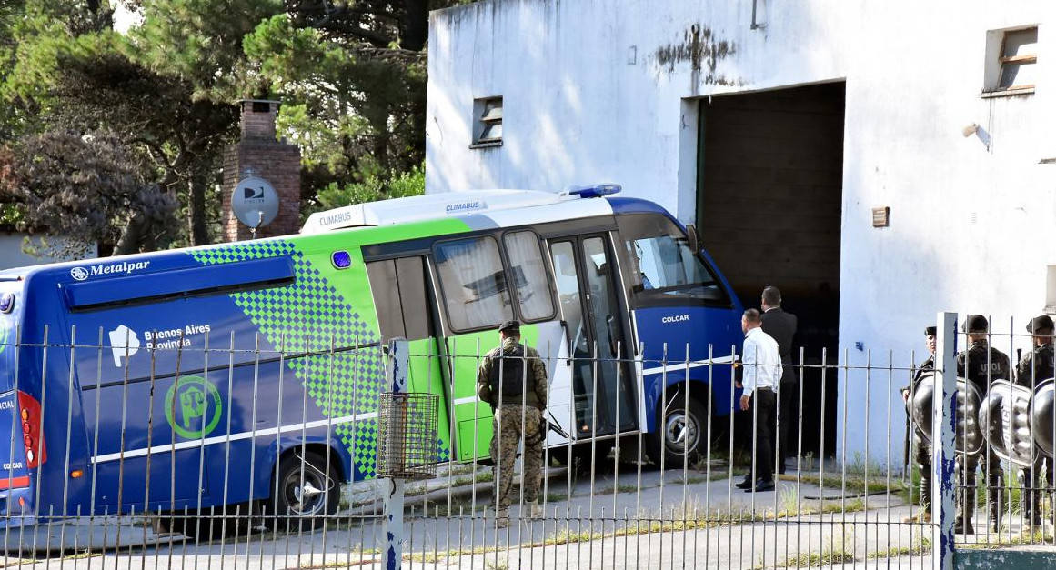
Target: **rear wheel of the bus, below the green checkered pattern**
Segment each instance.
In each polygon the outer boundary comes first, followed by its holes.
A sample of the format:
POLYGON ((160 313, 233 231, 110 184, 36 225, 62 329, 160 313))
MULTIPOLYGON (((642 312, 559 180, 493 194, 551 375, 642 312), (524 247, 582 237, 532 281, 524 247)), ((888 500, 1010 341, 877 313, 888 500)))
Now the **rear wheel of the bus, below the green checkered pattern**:
POLYGON ((341 486, 333 460, 327 466, 325 457, 307 452, 302 461, 299 454, 289 453, 279 462, 277 477, 277 496, 270 502, 280 527, 322 528, 323 517, 337 513, 341 486))

